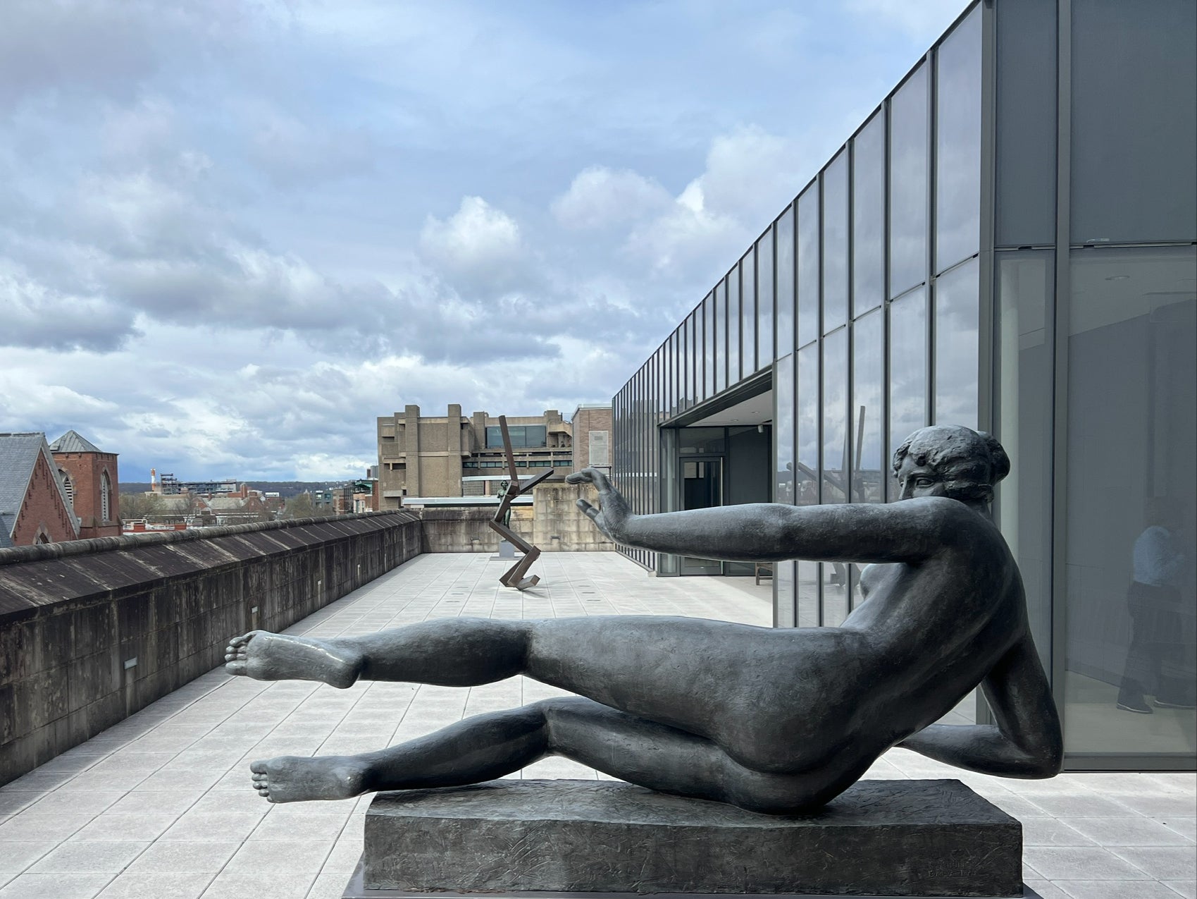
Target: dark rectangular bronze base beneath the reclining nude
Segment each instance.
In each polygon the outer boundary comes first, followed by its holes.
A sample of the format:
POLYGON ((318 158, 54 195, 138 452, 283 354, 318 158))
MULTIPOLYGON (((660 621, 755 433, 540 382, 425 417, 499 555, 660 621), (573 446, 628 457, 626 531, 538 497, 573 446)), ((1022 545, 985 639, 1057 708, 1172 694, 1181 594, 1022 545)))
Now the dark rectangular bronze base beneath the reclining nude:
POLYGON ((1032 897, 1022 826, 959 780, 862 780, 758 815, 608 780, 379 794, 348 897, 1032 897))

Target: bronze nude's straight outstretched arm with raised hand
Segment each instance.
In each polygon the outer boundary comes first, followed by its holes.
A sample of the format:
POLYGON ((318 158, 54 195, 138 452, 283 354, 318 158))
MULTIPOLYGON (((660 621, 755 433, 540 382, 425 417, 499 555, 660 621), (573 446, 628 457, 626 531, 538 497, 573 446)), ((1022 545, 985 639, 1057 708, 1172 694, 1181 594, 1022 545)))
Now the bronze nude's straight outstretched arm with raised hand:
POLYGON ((616 543, 703 559, 918 563, 959 545, 980 521, 964 503, 941 496, 889 505, 754 502, 633 515, 601 471, 585 469, 566 481, 597 488, 602 508, 585 500, 578 508, 616 543))

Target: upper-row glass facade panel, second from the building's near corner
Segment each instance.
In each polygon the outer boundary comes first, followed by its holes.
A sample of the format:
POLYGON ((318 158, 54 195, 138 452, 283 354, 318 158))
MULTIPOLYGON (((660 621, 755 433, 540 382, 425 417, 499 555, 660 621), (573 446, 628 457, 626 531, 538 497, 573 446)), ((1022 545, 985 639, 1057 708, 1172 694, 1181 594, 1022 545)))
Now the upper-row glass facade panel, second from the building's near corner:
POLYGON ((926 280, 926 65, 889 102, 889 296, 926 280))

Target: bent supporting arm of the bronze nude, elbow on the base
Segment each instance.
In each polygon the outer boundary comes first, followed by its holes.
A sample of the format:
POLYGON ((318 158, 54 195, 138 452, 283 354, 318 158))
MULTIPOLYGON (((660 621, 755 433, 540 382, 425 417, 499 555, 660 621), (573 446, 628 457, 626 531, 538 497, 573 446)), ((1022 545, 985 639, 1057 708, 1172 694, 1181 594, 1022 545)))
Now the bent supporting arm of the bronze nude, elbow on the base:
POLYGON ((932 724, 899 746, 983 774, 1058 774, 1064 760, 1059 716, 1029 636, 1002 657, 982 689, 996 725, 932 724))

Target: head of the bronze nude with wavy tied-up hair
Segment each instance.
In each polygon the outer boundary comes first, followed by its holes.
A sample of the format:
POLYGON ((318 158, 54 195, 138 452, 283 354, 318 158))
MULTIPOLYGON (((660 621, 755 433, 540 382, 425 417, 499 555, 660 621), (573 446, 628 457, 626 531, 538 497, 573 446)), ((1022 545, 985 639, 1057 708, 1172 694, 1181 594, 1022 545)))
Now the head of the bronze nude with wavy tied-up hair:
POLYGON ((994 501, 994 484, 1010 473, 997 440, 959 424, 920 428, 894 451, 899 499, 948 496, 968 503, 994 501))

